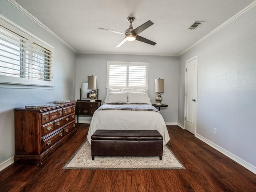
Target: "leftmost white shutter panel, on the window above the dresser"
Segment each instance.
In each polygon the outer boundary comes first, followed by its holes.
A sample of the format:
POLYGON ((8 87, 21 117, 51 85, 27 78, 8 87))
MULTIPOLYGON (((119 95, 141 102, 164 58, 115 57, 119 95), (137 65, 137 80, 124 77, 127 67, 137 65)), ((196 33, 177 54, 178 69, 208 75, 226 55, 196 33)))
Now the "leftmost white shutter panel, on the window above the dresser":
POLYGON ((30 78, 28 39, 0 26, 0 75, 10 83, 21 78, 20 83, 30 78))

